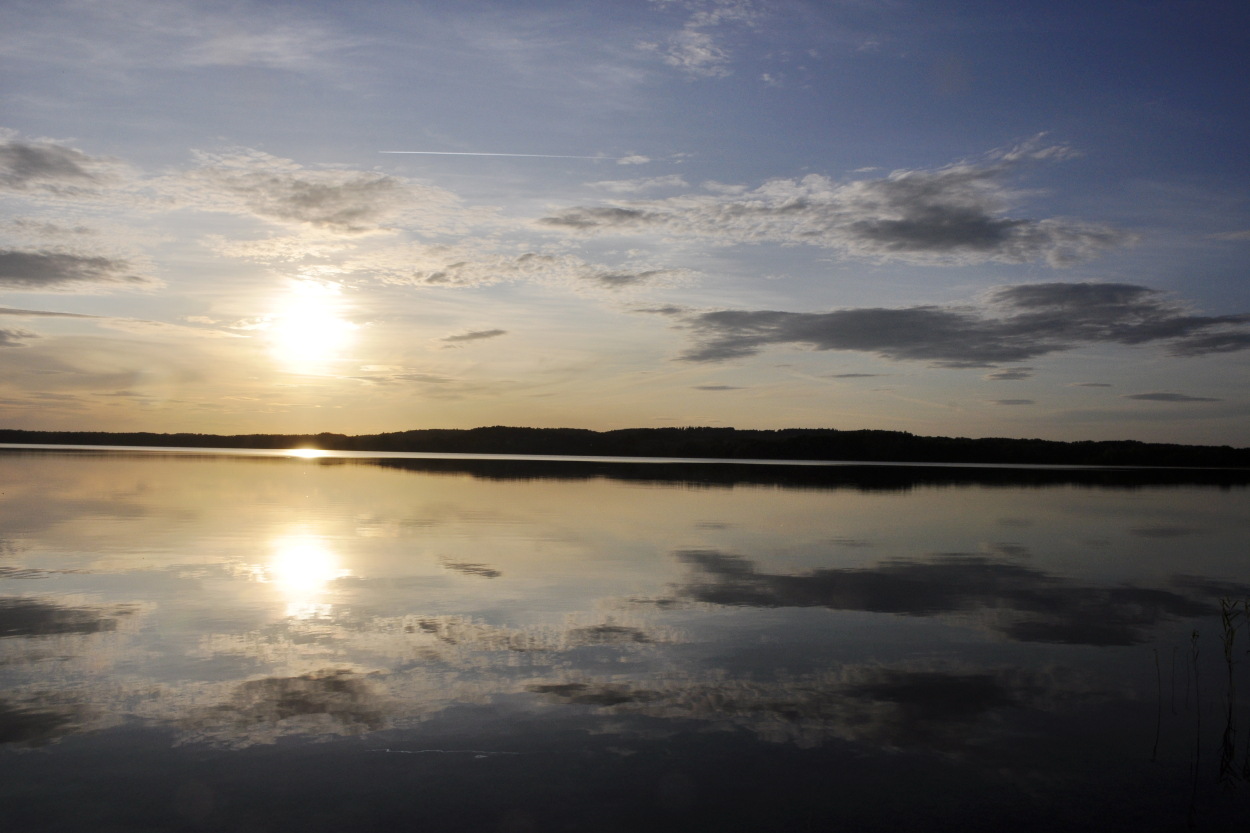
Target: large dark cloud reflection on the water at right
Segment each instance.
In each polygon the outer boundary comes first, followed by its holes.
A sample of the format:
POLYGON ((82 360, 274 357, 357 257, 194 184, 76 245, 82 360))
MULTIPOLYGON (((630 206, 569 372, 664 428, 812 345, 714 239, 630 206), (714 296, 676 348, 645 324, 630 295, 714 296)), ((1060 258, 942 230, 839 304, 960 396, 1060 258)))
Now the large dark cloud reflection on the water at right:
POLYGON ((1020 642, 1131 645, 1148 639, 1160 622, 1214 609, 1170 590, 1081 585, 982 555, 805 575, 760 573, 751 562, 716 550, 685 550, 678 558, 692 568, 678 595, 695 602, 914 617, 984 612, 994 614, 988 617, 990 627, 1020 642))

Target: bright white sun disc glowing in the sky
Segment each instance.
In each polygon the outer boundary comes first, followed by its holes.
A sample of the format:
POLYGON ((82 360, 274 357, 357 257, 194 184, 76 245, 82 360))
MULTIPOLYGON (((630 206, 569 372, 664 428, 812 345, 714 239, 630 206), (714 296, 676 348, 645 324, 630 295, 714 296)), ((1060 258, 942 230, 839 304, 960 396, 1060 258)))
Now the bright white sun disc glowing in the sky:
POLYGON ((334 283, 301 280, 270 326, 275 358, 289 370, 314 373, 345 358, 356 325, 341 318, 341 290, 334 283))

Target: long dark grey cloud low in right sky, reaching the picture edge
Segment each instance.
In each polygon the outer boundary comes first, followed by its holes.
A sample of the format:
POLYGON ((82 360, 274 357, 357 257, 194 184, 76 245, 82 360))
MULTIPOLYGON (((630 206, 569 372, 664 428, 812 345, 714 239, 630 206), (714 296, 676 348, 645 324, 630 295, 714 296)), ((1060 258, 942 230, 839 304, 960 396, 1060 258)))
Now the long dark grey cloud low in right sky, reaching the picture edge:
POLYGON ((1002 286, 979 308, 711 310, 678 318, 695 340, 681 356, 686 361, 739 359, 771 344, 966 368, 1091 344, 1162 343, 1172 355, 1194 356, 1225 351, 1234 336, 1244 336, 1242 348, 1250 348, 1250 333, 1232 329, 1250 324, 1250 314, 1195 315, 1164 293, 1132 284, 1002 286))

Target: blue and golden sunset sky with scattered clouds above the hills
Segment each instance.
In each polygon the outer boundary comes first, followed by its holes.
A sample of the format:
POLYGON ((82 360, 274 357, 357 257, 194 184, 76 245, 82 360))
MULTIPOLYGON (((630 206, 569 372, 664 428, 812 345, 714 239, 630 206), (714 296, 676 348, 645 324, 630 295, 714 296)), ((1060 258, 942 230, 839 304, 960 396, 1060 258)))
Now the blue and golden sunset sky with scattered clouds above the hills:
POLYGON ((1250 10, 0 6, 0 427, 1250 445, 1250 10))

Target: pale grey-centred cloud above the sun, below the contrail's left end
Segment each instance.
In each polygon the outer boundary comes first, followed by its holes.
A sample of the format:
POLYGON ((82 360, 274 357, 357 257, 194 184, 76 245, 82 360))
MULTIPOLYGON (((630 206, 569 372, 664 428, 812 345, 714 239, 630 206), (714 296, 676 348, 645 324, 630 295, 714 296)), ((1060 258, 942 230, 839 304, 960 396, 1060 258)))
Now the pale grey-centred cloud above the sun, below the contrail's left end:
POLYGON ((396 225, 464 233, 469 213, 451 191, 376 171, 308 169, 259 150, 199 153, 200 166, 169 178, 166 193, 192 208, 231 211, 359 235, 396 225))

